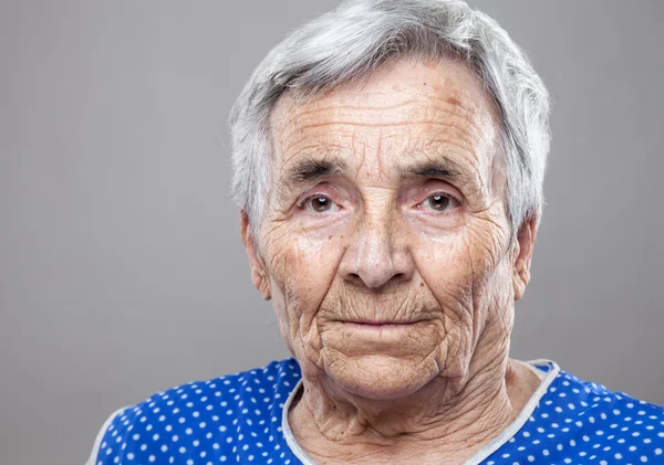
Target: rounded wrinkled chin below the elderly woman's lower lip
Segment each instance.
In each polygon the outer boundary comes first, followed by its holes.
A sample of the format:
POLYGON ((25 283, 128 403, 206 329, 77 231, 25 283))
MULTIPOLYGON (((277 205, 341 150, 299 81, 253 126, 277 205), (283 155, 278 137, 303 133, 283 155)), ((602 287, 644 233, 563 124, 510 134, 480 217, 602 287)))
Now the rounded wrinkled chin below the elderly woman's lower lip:
POLYGON ((438 366, 426 358, 366 355, 335 360, 326 372, 340 388, 352 394, 391 400, 422 389, 436 377, 438 366))

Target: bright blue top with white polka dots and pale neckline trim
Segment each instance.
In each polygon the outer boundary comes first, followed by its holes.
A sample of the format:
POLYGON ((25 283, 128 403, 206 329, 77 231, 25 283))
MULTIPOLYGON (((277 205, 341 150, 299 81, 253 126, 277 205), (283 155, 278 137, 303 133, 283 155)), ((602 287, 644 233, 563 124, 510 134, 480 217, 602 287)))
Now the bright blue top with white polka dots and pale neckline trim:
MULTIPOLYGON (((663 408, 549 360, 527 364, 539 388, 466 465, 664 464, 663 408)), ((155 393, 108 418, 89 465, 313 464, 284 415, 300 387, 300 368, 287 359, 155 393)))

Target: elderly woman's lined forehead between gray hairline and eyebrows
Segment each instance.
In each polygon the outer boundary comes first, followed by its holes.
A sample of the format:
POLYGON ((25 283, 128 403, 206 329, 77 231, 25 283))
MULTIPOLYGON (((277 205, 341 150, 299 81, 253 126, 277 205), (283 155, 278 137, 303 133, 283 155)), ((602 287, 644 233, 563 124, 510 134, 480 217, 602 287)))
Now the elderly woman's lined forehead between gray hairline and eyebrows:
POLYGON ((283 95, 270 121, 273 162, 283 171, 301 158, 333 154, 356 169, 384 172, 444 156, 484 183, 496 121, 488 93, 466 65, 401 61, 312 102, 283 95))

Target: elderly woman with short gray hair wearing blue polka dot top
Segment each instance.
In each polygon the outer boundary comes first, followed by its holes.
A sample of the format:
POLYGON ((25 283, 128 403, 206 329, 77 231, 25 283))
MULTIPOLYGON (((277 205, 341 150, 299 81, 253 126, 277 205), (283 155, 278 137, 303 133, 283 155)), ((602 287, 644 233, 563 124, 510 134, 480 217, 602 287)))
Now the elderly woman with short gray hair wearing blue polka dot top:
POLYGON ((510 359, 548 94, 461 1, 359 0, 232 110, 251 279, 289 360, 121 409, 91 465, 664 463, 664 413, 510 359))

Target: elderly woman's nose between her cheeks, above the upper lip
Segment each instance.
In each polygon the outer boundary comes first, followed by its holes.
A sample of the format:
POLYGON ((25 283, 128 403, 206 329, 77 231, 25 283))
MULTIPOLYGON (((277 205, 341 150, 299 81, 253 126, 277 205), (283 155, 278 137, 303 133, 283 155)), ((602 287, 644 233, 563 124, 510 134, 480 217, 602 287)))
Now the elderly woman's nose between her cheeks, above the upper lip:
POLYGON ((349 242, 340 263, 345 281, 375 290, 413 278, 413 256, 398 219, 390 214, 365 216, 349 242))

